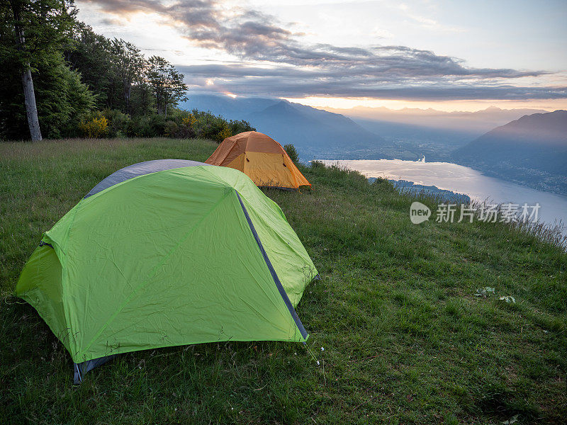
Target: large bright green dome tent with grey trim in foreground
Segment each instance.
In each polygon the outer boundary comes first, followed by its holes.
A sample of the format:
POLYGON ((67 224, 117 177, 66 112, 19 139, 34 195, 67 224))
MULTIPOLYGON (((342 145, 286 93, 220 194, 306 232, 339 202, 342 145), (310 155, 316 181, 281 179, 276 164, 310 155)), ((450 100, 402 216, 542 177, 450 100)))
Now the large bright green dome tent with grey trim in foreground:
POLYGON ((129 351, 305 341, 294 307, 316 276, 248 176, 163 159, 111 174, 45 232, 16 295, 67 348, 78 382, 129 351))

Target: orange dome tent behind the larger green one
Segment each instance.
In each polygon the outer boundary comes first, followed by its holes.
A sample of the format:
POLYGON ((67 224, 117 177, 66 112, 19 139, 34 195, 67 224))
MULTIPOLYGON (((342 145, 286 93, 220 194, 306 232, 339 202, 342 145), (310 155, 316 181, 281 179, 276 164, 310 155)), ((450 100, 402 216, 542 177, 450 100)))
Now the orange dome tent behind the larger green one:
POLYGON ((256 186, 286 189, 311 186, 283 147, 271 137, 257 131, 227 137, 206 163, 240 170, 256 186))

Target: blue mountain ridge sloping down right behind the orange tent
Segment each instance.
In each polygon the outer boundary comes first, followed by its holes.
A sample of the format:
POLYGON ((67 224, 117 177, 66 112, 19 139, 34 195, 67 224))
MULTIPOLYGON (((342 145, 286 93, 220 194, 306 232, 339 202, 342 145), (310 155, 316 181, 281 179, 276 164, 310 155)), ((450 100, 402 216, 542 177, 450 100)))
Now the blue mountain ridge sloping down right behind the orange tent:
POLYGON ((337 113, 268 98, 192 95, 181 108, 211 111, 232 120, 247 120, 281 145, 291 143, 303 159, 359 159, 381 155, 382 137, 337 113))

